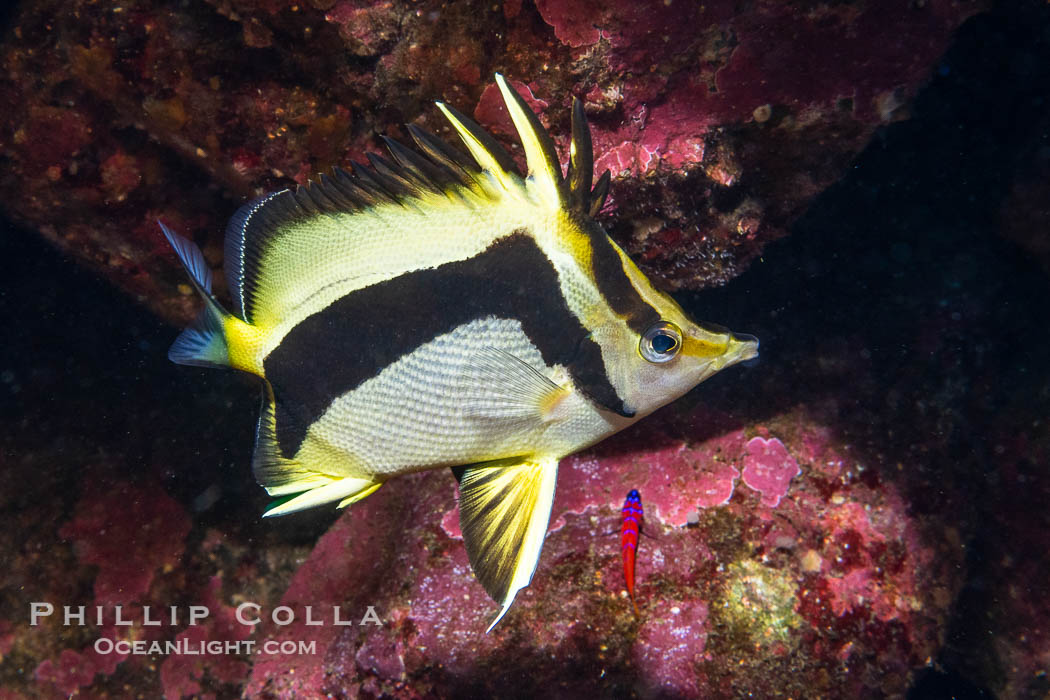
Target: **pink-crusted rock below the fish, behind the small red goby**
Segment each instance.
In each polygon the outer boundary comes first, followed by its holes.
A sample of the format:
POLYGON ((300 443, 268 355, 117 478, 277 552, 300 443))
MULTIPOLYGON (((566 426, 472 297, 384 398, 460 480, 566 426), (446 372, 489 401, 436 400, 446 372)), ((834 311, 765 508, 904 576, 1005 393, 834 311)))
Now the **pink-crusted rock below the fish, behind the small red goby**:
POLYGON ((564 461, 532 585, 488 635, 497 607, 459 542, 452 475, 392 482, 296 573, 281 600, 295 622, 260 630, 316 642, 315 653, 257 658, 247 692, 903 694, 940 645, 960 550, 924 533, 878 475, 885 465, 853 453, 821 412, 744 427, 687 408, 564 461), (639 543, 637 618, 618 546, 630 488, 650 535, 639 543), (697 513, 698 494, 704 503, 724 489, 723 504, 697 513), (306 622, 307 606, 319 624, 306 622), (333 623, 333 607, 350 624, 333 623))

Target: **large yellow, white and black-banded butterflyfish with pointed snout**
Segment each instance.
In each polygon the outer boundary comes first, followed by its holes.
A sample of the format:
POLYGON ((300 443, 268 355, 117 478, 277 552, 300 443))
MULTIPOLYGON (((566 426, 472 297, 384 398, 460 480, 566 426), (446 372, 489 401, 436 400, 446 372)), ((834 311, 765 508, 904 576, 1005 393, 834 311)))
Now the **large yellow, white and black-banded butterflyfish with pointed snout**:
MULTIPOLYGON (((757 355, 691 321, 594 216, 583 105, 554 144, 496 77, 528 173, 438 103, 466 153, 408 126, 370 155, 243 207, 226 232, 232 313, 200 249, 162 228, 205 300, 174 362, 262 378, 255 478, 266 515, 359 501, 452 467, 478 580, 507 612, 543 546, 558 463, 757 355)), ((488 628, 491 630, 491 625, 488 628)))

